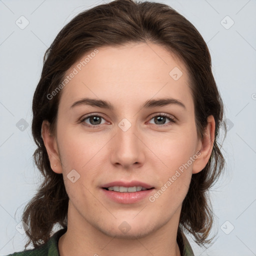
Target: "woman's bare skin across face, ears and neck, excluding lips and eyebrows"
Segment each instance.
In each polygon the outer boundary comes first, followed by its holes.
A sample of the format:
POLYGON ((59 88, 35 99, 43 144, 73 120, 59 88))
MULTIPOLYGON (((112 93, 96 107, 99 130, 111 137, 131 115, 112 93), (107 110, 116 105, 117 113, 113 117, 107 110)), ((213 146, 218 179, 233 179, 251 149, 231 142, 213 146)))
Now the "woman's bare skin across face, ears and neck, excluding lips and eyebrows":
POLYGON ((47 121, 42 123, 51 168, 63 174, 69 196, 67 232, 58 242, 60 255, 180 255, 176 235, 181 205, 191 175, 201 171, 210 157, 214 118, 208 116, 203 139, 197 137, 187 70, 162 46, 129 43, 98 50, 62 89, 55 133, 50 133, 47 121), (169 75, 174 67, 183 73, 178 80, 169 75), (108 100, 114 108, 70 108, 84 97, 108 100), (185 108, 178 104, 140 108, 144 101, 162 97, 178 99, 185 108), (89 118, 79 122, 89 113, 103 117, 97 128, 85 125, 94 124, 89 118), (175 122, 153 118, 162 113, 175 122), (131 124, 126 131, 118 126, 123 118, 131 124), (199 150, 197 159, 154 202, 146 197, 117 203, 100 188, 111 181, 139 180, 154 187, 153 195, 199 150), (80 175, 74 183, 67 178, 72 169, 80 175), (130 226, 126 233, 118 228, 123 221, 130 226))

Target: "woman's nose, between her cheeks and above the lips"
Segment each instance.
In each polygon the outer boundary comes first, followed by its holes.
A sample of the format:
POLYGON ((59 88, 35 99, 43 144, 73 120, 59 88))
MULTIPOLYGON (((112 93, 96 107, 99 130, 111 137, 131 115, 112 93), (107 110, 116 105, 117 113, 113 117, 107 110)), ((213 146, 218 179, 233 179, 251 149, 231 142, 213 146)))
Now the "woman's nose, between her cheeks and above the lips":
MULTIPOLYGON (((127 126, 127 123, 125 125, 127 126)), ((111 162, 125 169, 141 167, 145 158, 143 151, 145 145, 142 143, 142 137, 135 124, 127 130, 126 128, 121 125, 117 127, 116 134, 111 141, 111 162)))

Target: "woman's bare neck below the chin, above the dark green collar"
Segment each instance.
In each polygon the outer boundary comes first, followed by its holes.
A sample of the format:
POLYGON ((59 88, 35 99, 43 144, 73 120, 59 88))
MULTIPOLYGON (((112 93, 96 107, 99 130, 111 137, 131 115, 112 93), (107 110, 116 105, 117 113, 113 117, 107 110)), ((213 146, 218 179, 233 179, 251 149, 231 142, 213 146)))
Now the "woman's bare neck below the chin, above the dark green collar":
POLYGON ((178 217, 179 214, 176 218, 173 216, 166 224, 143 237, 111 237, 88 223, 69 204, 67 231, 58 241, 59 254, 60 256, 180 256, 176 241, 178 217))

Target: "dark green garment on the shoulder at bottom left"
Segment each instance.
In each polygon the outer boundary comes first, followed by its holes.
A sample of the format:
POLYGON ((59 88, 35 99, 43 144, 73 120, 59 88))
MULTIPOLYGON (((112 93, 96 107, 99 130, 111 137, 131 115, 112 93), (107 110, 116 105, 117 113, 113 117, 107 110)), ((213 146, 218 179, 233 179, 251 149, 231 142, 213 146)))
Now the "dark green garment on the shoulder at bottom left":
POLYGON ((66 228, 62 228, 55 232, 46 243, 41 244, 39 247, 14 252, 6 256, 59 256, 58 239, 65 232, 66 228))

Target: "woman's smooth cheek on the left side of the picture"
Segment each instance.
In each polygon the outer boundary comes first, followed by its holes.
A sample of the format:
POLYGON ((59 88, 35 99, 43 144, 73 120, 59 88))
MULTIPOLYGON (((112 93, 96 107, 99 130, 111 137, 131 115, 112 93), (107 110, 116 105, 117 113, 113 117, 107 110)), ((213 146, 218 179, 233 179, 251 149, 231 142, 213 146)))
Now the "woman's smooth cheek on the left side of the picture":
POLYGON ((106 136, 99 138, 96 134, 75 132, 71 129, 59 131, 58 145, 63 179, 67 194, 74 201, 77 200, 77 195, 89 199, 88 190, 97 179, 102 168, 101 165, 105 163, 102 147, 108 140, 106 136), (76 175, 79 177, 74 183, 69 179, 69 173, 73 169, 78 173, 74 172, 74 179, 76 179, 76 175))

